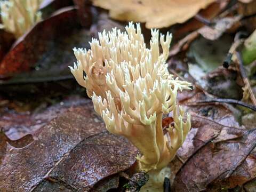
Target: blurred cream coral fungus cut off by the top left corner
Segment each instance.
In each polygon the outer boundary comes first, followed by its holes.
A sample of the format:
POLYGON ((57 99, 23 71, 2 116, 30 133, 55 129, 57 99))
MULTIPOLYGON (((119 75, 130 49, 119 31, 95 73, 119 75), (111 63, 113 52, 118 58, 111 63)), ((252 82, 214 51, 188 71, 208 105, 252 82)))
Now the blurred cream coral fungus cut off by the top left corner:
POLYGON ((14 34, 16 38, 22 36, 41 20, 39 5, 43 0, 9 0, 1 1, 2 25, 6 31, 14 34))

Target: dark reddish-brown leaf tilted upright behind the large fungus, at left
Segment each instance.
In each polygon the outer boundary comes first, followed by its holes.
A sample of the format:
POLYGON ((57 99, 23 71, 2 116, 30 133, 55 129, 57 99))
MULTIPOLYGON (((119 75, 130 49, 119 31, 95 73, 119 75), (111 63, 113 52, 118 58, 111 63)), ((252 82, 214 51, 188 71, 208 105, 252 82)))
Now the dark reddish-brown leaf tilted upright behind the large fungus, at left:
POLYGON ((13 76, 35 68, 33 73, 17 78, 23 83, 71 78, 68 66, 75 61, 72 49, 87 47, 88 41, 89 32, 81 29, 76 9, 63 8, 18 39, 0 63, 0 76, 13 76))

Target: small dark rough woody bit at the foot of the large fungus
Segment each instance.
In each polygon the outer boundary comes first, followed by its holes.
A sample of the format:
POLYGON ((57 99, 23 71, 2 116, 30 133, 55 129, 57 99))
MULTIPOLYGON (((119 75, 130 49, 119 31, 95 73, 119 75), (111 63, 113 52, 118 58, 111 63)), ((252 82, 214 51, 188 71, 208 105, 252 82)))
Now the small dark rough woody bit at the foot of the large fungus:
POLYGON ((132 175, 128 183, 124 185, 126 188, 125 192, 137 192, 140 191, 140 188, 146 184, 149 179, 149 175, 145 171, 140 173, 135 173, 132 175))

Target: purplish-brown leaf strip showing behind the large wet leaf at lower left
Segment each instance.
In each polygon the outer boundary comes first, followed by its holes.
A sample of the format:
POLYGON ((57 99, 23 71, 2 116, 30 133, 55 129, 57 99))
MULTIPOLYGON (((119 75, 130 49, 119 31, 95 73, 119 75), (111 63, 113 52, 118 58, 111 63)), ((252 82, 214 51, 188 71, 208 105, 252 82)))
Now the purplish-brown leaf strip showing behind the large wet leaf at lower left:
POLYGON ((3 110, 0 113, 0 127, 3 127, 7 137, 18 140, 26 134, 34 134, 35 131, 52 121, 58 114, 67 111, 71 106, 81 106, 88 102, 88 99, 70 97, 45 109, 39 106, 39 109, 36 108, 34 111, 17 111, 16 108, 3 110))

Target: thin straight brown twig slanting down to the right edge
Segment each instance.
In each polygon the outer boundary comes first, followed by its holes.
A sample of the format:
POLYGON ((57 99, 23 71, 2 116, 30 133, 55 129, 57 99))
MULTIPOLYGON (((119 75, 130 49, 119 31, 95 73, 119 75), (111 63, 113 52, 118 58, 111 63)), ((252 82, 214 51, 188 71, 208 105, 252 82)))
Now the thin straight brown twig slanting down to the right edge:
POLYGON ((253 105, 256 106, 256 99, 255 99, 255 96, 254 96, 254 94, 252 92, 252 88, 251 88, 249 79, 248 79, 248 77, 246 75, 246 72, 245 72, 245 69, 244 69, 243 59, 241 57, 241 54, 238 51, 236 51, 235 53, 236 53, 236 57, 237 57, 238 69, 239 69, 239 71, 241 73, 241 76, 243 78, 244 84, 245 84, 245 86, 247 87, 247 89, 249 91, 251 101, 252 101, 253 105))

